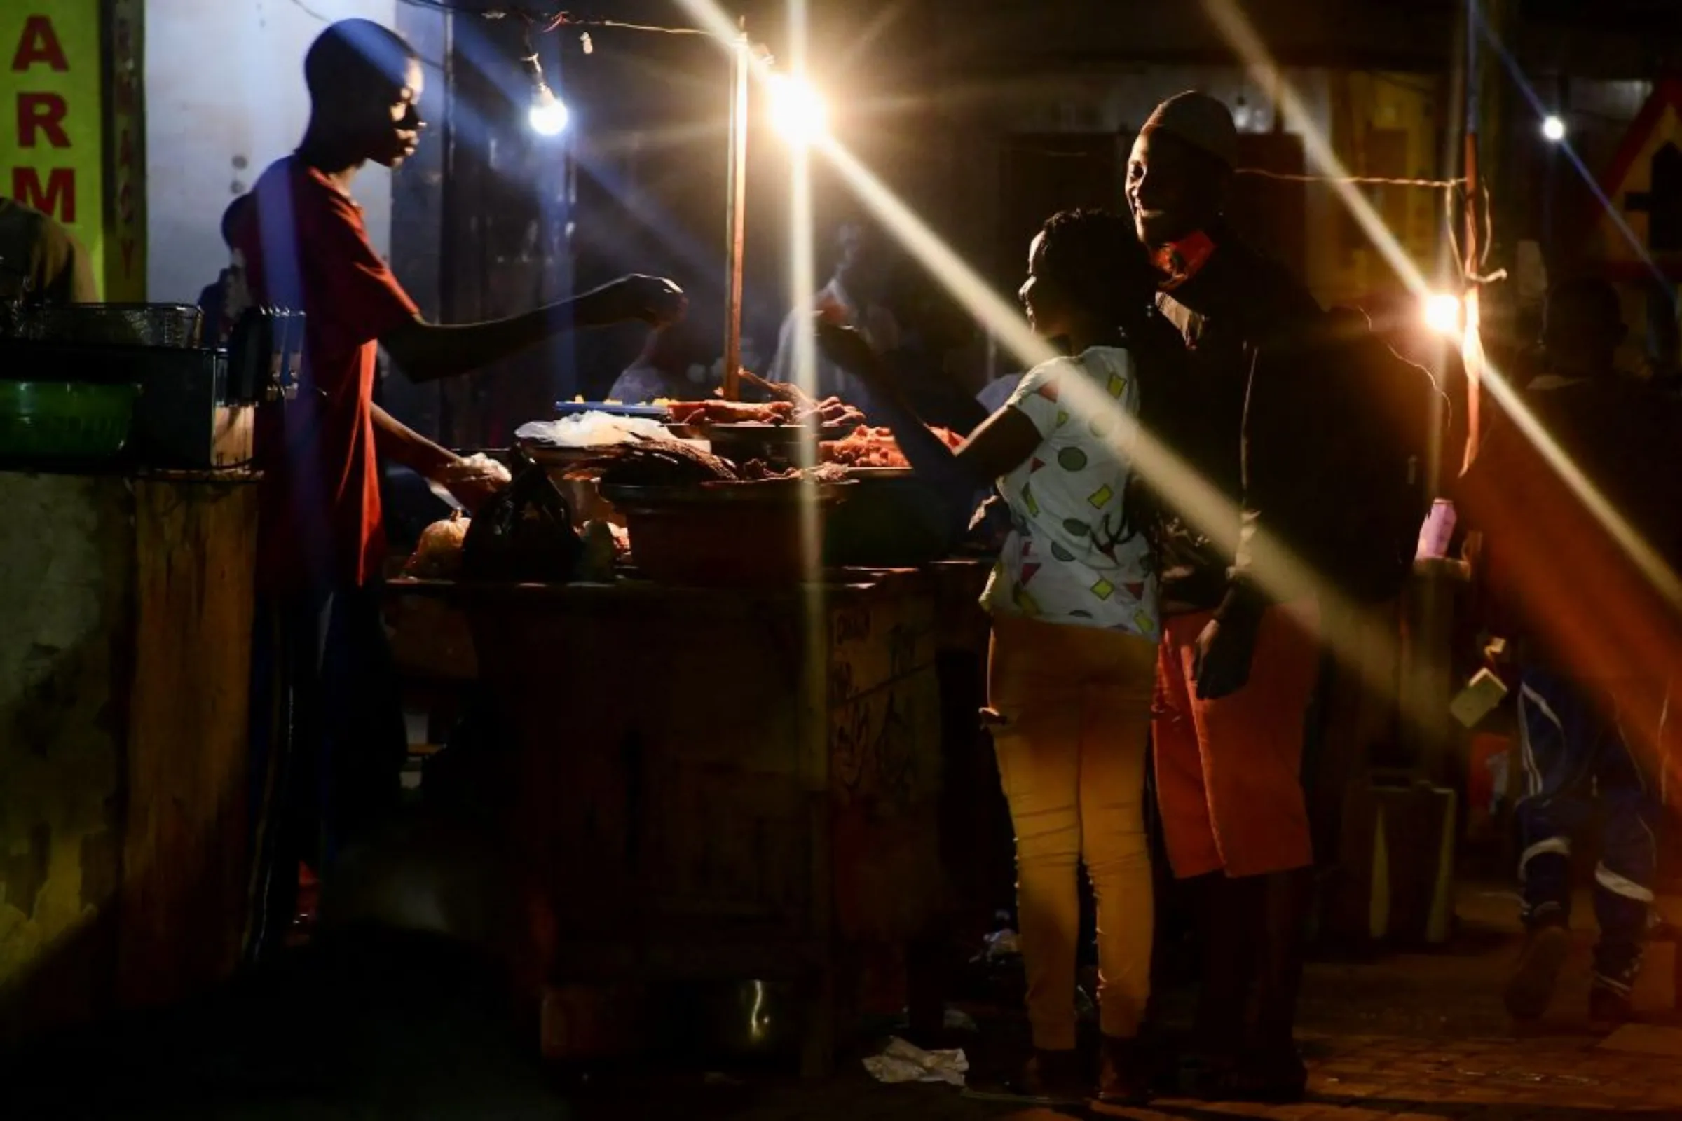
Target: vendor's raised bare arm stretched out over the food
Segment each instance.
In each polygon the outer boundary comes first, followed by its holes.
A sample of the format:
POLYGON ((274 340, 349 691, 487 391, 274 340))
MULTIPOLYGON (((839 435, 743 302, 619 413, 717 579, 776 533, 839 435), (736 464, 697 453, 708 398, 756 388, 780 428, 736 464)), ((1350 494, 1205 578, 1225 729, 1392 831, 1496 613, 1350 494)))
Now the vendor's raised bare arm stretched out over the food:
POLYGON ((488 366, 567 331, 631 319, 659 326, 681 318, 683 309, 683 291, 671 281, 627 276, 506 319, 446 326, 415 316, 382 334, 380 346, 412 382, 434 382, 488 366))

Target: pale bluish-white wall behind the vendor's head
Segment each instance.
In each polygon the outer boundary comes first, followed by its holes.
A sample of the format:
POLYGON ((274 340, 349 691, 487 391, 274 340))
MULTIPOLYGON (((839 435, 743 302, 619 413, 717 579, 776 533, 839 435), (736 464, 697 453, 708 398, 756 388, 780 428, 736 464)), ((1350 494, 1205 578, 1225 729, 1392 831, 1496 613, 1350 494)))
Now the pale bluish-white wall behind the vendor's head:
MULTIPOLYGON (((227 264, 222 210, 303 136, 303 59, 328 20, 395 25, 397 0, 146 0, 148 299, 187 301, 227 264)), ((357 180, 390 247, 390 173, 357 180)))

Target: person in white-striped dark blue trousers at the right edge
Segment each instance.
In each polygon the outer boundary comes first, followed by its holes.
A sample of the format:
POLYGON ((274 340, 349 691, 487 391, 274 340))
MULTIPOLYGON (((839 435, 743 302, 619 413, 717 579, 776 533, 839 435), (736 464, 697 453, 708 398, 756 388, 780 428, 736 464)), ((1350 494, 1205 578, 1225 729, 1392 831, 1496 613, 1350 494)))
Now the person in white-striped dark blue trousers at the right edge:
MULTIPOLYGON (((1682 420, 1672 398, 1616 370, 1623 336, 1610 284, 1556 286, 1542 321, 1542 371, 1522 402, 1542 439, 1635 529, 1637 548, 1675 571, 1682 420)), ((1653 756, 1665 741, 1677 664, 1620 622, 1620 600, 1645 576, 1623 578, 1610 566, 1615 558, 1596 556, 1593 543, 1605 529, 1579 524, 1593 519, 1588 506, 1519 425, 1504 418, 1494 427, 1463 489, 1472 523, 1487 538, 1487 580, 1519 671, 1524 792, 1515 824, 1527 938, 1507 1010, 1519 1020, 1547 1010, 1571 950, 1573 845, 1600 822, 1589 1020, 1610 1030, 1630 1018, 1647 941, 1660 818, 1653 756)))

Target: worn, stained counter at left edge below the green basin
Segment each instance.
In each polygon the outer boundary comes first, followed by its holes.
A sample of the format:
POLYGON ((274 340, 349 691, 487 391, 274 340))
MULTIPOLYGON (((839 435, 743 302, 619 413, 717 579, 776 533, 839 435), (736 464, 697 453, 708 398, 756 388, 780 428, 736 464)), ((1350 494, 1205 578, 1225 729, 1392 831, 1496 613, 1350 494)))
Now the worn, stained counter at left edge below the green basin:
POLYGON ((0 511, 5 1040, 239 960, 256 492, 0 472, 0 511))

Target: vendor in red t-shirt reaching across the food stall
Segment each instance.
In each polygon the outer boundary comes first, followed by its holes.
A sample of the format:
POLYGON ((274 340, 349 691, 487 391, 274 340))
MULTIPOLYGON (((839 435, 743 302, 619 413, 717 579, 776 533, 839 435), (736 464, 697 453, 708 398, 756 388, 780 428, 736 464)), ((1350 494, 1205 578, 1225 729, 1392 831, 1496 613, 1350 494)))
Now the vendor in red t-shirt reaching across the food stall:
POLYGON ((262 173, 256 207, 232 237, 254 303, 306 314, 298 398, 257 432, 262 608, 252 711, 289 713, 267 770, 276 785, 259 951, 293 918, 299 860, 330 866, 338 845, 378 825, 399 798, 407 736, 380 613, 378 457, 439 481, 469 509, 498 486, 463 476, 461 457, 373 402, 377 348, 407 376, 432 380, 572 328, 658 324, 683 313, 674 284, 632 276, 508 319, 427 323, 370 244, 350 193, 363 165, 395 168, 414 155, 424 129, 419 55, 378 24, 343 20, 309 47, 304 81, 303 143, 262 173), (278 696, 264 697, 262 686, 278 696))

